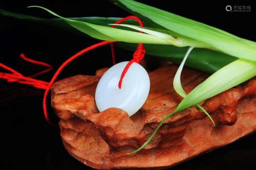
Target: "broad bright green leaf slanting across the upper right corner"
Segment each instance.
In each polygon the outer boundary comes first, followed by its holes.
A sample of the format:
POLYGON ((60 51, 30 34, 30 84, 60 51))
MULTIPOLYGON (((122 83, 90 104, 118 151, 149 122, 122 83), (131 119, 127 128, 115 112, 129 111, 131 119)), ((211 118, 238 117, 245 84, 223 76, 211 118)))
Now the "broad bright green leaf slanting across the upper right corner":
POLYGON ((256 43, 239 38, 220 29, 210 27, 173 13, 163 11, 133 0, 112 0, 115 5, 150 20, 155 25, 186 37, 201 41, 231 56, 256 61, 256 43))

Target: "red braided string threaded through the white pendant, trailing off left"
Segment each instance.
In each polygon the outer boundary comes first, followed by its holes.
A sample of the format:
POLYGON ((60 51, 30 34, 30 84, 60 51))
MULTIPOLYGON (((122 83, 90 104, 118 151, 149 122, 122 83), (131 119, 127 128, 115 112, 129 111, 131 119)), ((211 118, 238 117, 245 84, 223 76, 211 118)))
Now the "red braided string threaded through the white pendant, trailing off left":
MULTIPOLYGON (((133 19, 133 20, 138 21, 139 25, 141 27, 143 27, 142 21, 138 17, 136 17, 136 16, 128 16, 128 17, 125 17, 125 18, 122 18, 122 19, 116 21, 115 23, 119 24, 119 23, 121 23, 121 22, 123 22, 125 20, 128 20, 128 19, 133 19)), ((115 28, 115 26, 112 26, 112 27, 115 28)), ((68 60, 66 60, 58 68, 58 70, 55 72, 55 74, 53 75, 53 77, 52 77, 50 82, 45 82, 45 81, 33 79, 33 77, 36 77, 36 76, 45 74, 46 72, 49 72, 52 69, 52 66, 47 64, 47 63, 45 63, 45 62, 41 62, 41 61, 30 59, 30 58, 26 57, 25 54, 20 54, 20 58, 22 58, 23 60, 25 60, 27 62, 33 63, 33 64, 45 66, 45 67, 47 67, 47 69, 42 70, 40 72, 37 72, 34 75, 25 77, 22 74, 20 74, 20 72, 12 69, 11 67, 8 67, 8 66, 0 63, 0 67, 2 67, 2 68, 4 68, 4 69, 6 69, 6 70, 11 72, 11 73, 0 72, 0 79, 6 79, 7 82, 17 82, 17 83, 20 83, 20 84, 32 85, 35 88, 39 88, 39 89, 45 89, 46 91, 45 91, 45 94, 44 94, 44 99, 42 101, 42 107, 43 107, 44 116, 45 116, 47 122, 49 124, 52 124, 51 120, 49 118, 48 112, 47 112, 46 100, 47 100, 47 95, 48 95, 48 93, 49 93, 49 91, 50 91, 54 81, 57 79, 58 75, 60 74, 61 70, 63 68, 65 68, 70 62, 75 60, 77 57, 81 56, 82 54, 84 54, 84 53, 86 53, 86 52, 88 52, 90 50, 93 50, 94 48, 97 48, 99 46, 103 46, 103 45, 106 45, 106 44, 111 44, 112 60, 113 60, 113 64, 115 64, 116 63, 116 58, 115 58, 115 51, 114 51, 114 44, 113 44, 114 42, 117 42, 117 41, 102 41, 102 42, 96 43, 94 45, 91 45, 91 46, 89 46, 87 48, 84 48, 83 50, 81 50, 80 52, 76 53, 75 55, 70 57, 68 60)), ((120 80, 119 80, 119 83, 118 83, 118 87, 119 88, 121 88, 122 80, 123 80, 127 70, 129 69, 129 67, 134 62, 139 63, 139 61, 141 59, 143 59, 144 55, 145 55, 145 48, 144 48, 142 43, 139 43, 139 45, 137 47, 137 50, 133 54, 133 59, 129 63, 126 64, 125 68, 122 71, 122 74, 121 74, 121 77, 120 77, 120 80)))

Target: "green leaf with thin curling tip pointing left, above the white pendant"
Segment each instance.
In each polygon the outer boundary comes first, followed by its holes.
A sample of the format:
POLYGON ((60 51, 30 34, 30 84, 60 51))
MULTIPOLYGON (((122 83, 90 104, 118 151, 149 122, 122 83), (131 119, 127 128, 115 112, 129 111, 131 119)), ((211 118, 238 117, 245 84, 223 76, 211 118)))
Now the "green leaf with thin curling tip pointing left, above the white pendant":
MULTIPOLYGON (((101 40, 113 40, 113 41, 124 41, 130 43, 149 43, 149 44, 173 44, 176 46, 197 46, 197 47, 208 47, 207 44, 202 43, 197 40, 191 40, 190 38, 186 37, 172 37, 169 34, 160 33, 157 31, 150 31, 150 34, 139 34, 137 32, 126 31, 121 29, 113 29, 110 27, 104 27, 99 25, 94 25, 89 22, 78 21, 74 19, 65 18, 59 16, 58 14, 39 6, 31 6, 37 7, 46 10, 47 12, 51 13, 54 16, 57 16, 63 20, 65 20, 69 25, 76 28, 77 30, 88 34, 89 36, 101 40), (161 34, 161 37, 156 36, 161 34), (153 36, 149 36, 153 35, 153 36), (173 39, 173 40, 172 40, 173 39)), ((135 27, 135 26, 134 26, 135 27)), ((142 29, 142 28, 140 28, 142 29)), ((153 28, 152 28, 153 29, 153 28)), ((176 34, 177 36, 178 34, 176 34)))

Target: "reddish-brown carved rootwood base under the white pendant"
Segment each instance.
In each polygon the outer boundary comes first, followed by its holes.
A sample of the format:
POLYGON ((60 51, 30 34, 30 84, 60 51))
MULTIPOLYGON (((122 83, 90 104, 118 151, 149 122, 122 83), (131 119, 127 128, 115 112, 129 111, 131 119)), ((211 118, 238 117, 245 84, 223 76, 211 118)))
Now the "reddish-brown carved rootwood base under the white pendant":
MULTIPOLYGON (((52 107, 66 150, 82 163, 97 169, 166 168, 214 150, 256 131, 256 79, 200 103, 217 124, 190 107, 170 117, 151 143, 134 155, 163 117, 182 100, 173 89, 177 66, 168 64, 150 73, 146 103, 132 117, 117 108, 98 113, 94 102, 96 76, 77 75, 52 87, 52 107)), ((208 75, 184 69, 182 84, 191 91, 208 75)), ((214 88, 214 87, 212 87, 214 88)))

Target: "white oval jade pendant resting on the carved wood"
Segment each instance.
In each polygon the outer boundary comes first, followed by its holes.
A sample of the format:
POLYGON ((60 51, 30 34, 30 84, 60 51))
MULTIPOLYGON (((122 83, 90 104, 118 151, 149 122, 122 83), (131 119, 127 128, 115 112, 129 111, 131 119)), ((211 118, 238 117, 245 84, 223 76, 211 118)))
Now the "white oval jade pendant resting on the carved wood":
POLYGON ((150 92, 150 77, 140 64, 133 63, 130 66, 123 78, 121 89, 118 87, 127 63, 128 61, 124 61, 113 65, 99 80, 95 102, 100 112, 114 107, 132 116, 145 103, 150 92))

